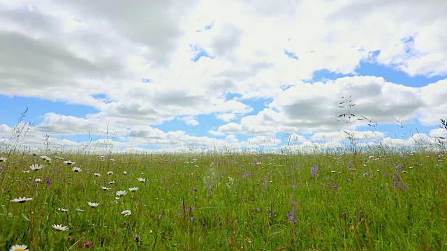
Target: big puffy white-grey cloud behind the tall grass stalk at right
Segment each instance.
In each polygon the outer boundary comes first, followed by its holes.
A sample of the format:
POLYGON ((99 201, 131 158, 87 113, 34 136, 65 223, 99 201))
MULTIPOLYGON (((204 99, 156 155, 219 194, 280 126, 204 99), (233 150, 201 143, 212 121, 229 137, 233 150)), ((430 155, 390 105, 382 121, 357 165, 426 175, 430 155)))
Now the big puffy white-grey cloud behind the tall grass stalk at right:
MULTIPOLYGON (((447 117, 447 104, 442 98, 447 95, 444 94, 445 85, 444 80, 428 86, 409 87, 370 76, 342 77, 325 83, 299 82, 274 92, 268 108, 258 114, 245 116, 240 123, 227 123, 217 131, 262 135, 273 131, 347 130, 346 117, 337 122, 337 116, 347 112, 339 107, 342 96, 352 96, 354 119, 366 116, 373 123, 394 123, 393 117, 404 122, 416 118, 432 125, 439 123, 440 117, 447 117)), ((353 129, 360 125, 367 125, 367 121, 353 121, 353 129)))

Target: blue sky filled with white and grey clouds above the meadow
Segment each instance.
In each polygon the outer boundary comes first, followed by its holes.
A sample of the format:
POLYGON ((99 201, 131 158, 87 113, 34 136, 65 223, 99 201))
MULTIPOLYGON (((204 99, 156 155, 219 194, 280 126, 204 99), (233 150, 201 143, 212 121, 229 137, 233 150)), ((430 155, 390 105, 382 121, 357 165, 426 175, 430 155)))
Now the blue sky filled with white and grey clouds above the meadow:
POLYGON ((114 149, 416 144, 447 119, 447 1, 0 2, 0 139, 114 149), (342 118, 343 119, 343 118, 342 118))

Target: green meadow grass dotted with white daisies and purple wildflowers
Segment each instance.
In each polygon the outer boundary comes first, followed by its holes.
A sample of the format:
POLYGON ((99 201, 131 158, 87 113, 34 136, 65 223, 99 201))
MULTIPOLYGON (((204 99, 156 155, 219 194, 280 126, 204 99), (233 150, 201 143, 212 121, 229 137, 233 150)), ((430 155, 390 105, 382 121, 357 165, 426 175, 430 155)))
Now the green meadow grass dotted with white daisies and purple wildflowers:
POLYGON ((444 156, 58 156, 0 162, 0 249, 447 250, 444 156))

